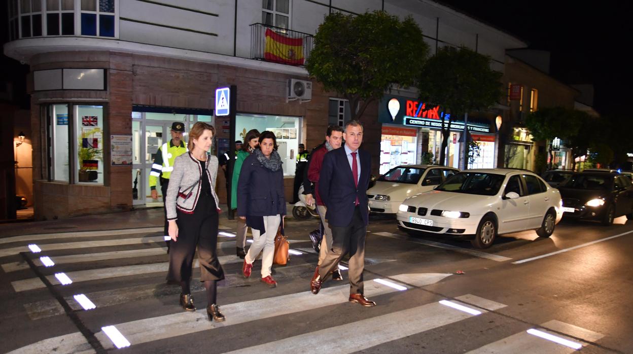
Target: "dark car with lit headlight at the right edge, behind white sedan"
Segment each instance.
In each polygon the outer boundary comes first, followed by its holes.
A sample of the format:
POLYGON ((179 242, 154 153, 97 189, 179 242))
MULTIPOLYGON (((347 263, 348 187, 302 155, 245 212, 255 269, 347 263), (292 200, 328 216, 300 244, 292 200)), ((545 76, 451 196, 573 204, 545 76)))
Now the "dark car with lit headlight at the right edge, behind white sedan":
POLYGON ((633 184, 610 172, 573 174, 558 187, 563 198, 563 217, 600 220, 604 225, 626 215, 633 219, 633 184))

